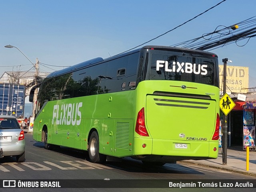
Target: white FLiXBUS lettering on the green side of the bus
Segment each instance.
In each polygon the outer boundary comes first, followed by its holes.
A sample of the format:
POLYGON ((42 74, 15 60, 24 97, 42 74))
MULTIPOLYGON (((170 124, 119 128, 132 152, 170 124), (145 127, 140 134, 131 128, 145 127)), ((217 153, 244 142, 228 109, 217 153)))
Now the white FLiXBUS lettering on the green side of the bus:
POLYGON ((81 112, 80 107, 83 103, 68 103, 62 105, 54 105, 52 112, 52 124, 56 121, 56 125, 80 125, 81 112))

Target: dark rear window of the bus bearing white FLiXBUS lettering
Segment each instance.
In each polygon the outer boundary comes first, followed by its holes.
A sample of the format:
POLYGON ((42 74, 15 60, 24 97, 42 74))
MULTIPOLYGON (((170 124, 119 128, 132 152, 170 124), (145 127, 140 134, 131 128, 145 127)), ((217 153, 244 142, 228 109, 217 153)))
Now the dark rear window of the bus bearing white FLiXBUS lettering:
POLYGON ((177 80, 217 85, 214 59, 151 54, 150 80, 177 80))

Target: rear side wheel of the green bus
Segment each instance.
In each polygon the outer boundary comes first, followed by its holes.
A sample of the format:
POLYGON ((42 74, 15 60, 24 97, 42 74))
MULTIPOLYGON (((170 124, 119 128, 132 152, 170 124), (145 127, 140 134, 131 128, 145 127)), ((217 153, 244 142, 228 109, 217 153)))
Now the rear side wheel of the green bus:
POLYGON ((104 163, 106 161, 106 155, 99 153, 99 136, 96 131, 92 132, 89 139, 88 154, 89 160, 92 163, 104 163))

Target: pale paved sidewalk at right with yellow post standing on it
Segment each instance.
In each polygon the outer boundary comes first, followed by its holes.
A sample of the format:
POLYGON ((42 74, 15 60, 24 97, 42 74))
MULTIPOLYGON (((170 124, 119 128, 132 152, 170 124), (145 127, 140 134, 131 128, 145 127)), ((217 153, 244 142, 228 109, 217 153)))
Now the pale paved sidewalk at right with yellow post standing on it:
POLYGON ((249 152, 249 170, 246 171, 246 151, 244 151, 242 147, 228 147, 227 165, 222 165, 221 148, 219 148, 219 154, 217 159, 184 160, 179 162, 200 165, 203 167, 222 169, 230 172, 236 172, 256 177, 256 151, 249 152))

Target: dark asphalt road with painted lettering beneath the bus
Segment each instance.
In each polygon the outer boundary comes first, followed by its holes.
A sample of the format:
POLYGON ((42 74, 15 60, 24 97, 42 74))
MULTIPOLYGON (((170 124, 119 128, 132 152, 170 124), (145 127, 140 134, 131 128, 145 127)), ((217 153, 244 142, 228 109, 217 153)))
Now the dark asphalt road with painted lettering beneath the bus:
MULTIPOLYGON (((103 181, 105 180, 120 180, 124 183, 121 187, 128 187, 124 191, 142 191, 140 189, 129 188, 132 183, 131 179, 136 180, 138 184, 144 185, 145 181, 152 184, 157 179, 161 180, 174 180, 174 179, 195 179, 205 180, 210 179, 210 182, 214 179, 242 179, 245 182, 248 179, 255 179, 251 176, 242 174, 236 174, 233 172, 227 172, 223 170, 216 170, 213 168, 196 167, 195 165, 184 164, 166 164, 164 166, 147 167, 142 164, 141 161, 134 160, 132 158, 124 158, 122 162, 106 162, 105 164, 93 164, 86 161, 86 152, 77 151, 67 147, 60 147, 59 149, 46 150, 43 143, 33 140, 32 133, 25 134, 26 139, 26 161, 23 163, 16 163, 14 157, 6 157, 0 159, 0 179, 19 180, 19 179, 67 179, 66 182, 70 184, 70 187, 76 186, 79 182, 78 179, 86 179, 87 182, 91 182, 92 179, 103 181), (88 180, 91 179, 91 180, 88 180), (147 180, 146 180, 147 179, 147 180), (138 180, 138 181, 137 181, 138 180), (151 183, 150 183, 151 182, 151 183), (139 183, 140 184, 140 183, 139 183)), ((84 184, 84 183, 83 183, 84 184)), ((89 184, 89 183, 88 183, 89 184)), ((120 186, 120 185, 117 185, 120 186)), ((113 183, 113 189, 91 188, 90 191, 120 191, 116 189, 115 183, 113 183)), ((42 191, 74 191, 72 189, 47 189, 42 191)), ((76 191, 82 191, 84 189, 78 188, 76 191)), ((89 191, 88 188, 86 190, 89 191)), ((146 189, 143 189, 146 190, 146 189)), ((154 189, 155 191, 156 189, 154 189)), ((160 191, 170 190, 168 188, 158 188, 160 191)), ((175 189, 182 191, 205 191, 204 188, 191 189, 181 188, 175 189)), ((207 188, 206 191, 224 191, 224 188, 207 188)), ((240 189, 230 188, 225 190, 241 191, 240 189)), ((251 189, 246 189, 250 191, 251 189)), ((0 190, 1 191, 1 190, 0 190)), ((34 191, 31 189, 30 191, 34 191)), ((36 190, 38 191, 38 189, 36 190)), ((153 191, 152 188, 148 188, 147 191, 153 191)))

